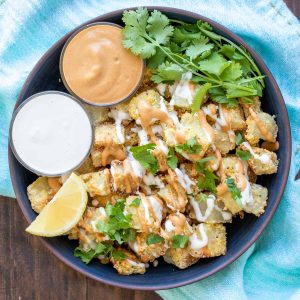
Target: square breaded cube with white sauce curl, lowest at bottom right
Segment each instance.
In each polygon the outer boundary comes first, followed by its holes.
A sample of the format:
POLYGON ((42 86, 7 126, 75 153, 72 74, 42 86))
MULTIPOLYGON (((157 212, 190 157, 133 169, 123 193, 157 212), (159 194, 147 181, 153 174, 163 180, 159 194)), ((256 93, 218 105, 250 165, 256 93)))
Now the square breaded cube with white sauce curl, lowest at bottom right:
POLYGON ((225 255, 225 226, 223 224, 206 223, 195 226, 193 234, 189 238, 189 253, 197 258, 225 255))

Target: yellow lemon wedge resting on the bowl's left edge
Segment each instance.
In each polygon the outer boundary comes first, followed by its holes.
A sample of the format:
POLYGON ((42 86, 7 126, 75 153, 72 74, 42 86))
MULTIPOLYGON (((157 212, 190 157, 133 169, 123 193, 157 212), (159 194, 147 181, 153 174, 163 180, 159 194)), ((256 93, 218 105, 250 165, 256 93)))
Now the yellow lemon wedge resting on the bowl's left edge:
POLYGON ((80 220, 87 200, 84 183, 80 177, 72 173, 26 231, 46 237, 67 233, 80 220))

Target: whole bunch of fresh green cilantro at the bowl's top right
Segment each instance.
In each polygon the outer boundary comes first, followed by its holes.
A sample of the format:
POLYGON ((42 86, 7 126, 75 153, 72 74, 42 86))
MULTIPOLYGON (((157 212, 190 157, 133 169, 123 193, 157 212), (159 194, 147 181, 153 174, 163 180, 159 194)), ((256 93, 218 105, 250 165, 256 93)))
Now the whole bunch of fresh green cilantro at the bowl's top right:
POLYGON ((243 46, 213 31, 201 20, 188 24, 170 20, 146 8, 123 14, 123 45, 147 60, 155 83, 179 80, 190 71, 201 84, 194 98, 195 112, 208 93, 212 100, 234 107, 239 101, 253 102, 261 96, 263 75, 243 46))

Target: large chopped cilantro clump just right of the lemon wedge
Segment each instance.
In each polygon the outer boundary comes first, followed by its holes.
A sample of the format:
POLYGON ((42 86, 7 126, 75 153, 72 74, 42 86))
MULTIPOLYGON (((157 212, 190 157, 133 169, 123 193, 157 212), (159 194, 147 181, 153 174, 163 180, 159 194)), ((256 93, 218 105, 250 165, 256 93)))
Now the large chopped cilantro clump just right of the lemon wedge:
POLYGON ((131 214, 124 214, 125 201, 120 199, 115 205, 108 203, 105 211, 108 220, 100 220, 96 228, 119 244, 133 241, 135 230, 131 228, 131 214))

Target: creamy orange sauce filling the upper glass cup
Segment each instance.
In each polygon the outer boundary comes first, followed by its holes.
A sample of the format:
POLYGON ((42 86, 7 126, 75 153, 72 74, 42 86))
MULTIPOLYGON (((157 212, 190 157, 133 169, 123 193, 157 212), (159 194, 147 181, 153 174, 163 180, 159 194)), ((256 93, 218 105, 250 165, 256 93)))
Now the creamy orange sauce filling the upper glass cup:
POLYGON ((122 28, 95 24, 79 31, 61 60, 62 77, 79 98, 113 104, 129 96, 143 75, 143 60, 122 45, 122 28))

